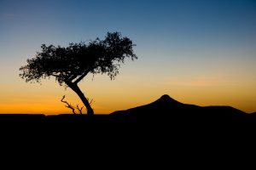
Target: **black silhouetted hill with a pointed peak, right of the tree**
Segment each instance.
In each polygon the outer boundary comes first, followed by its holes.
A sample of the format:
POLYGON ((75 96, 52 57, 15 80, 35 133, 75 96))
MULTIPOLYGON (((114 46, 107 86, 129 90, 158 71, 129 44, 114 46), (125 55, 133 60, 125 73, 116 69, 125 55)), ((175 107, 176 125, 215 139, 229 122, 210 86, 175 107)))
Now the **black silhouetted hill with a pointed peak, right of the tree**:
POLYGON ((230 106, 187 105, 163 95, 151 104, 126 111, 116 111, 112 115, 136 117, 141 122, 208 123, 241 121, 247 113, 230 106))

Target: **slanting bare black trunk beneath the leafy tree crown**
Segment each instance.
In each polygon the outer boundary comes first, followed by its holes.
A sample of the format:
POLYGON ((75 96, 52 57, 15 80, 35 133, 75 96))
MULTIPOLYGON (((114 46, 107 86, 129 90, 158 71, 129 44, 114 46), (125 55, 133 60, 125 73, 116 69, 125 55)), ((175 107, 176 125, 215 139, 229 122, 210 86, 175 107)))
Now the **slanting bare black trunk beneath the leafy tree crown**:
POLYGON ((83 92, 80 90, 79 86, 75 83, 67 83, 67 86, 71 89, 73 89, 73 91, 79 95, 79 98, 82 100, 82 102, 84 103, 84 106, 87 109, 87 115, 88 116, 93 116, 94 115, 94 111, 90 106, 90 103, 88 101, 88 99, 85 98, 83 92))

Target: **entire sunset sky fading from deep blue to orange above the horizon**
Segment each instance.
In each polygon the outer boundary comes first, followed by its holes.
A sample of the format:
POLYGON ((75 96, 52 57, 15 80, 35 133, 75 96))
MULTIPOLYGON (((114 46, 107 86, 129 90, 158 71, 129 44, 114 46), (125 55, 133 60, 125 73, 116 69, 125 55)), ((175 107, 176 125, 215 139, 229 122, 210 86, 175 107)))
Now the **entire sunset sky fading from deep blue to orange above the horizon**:
POLYGON ((0 0, 0 113, 69 113, 54 78, 26 83, 19 68, 43 43, 67 46, 119 31, 137 44, 111 81, 79 84, 96 113, 148 104, 163 94, 195 105, 256 111, 254 0, 0 0))

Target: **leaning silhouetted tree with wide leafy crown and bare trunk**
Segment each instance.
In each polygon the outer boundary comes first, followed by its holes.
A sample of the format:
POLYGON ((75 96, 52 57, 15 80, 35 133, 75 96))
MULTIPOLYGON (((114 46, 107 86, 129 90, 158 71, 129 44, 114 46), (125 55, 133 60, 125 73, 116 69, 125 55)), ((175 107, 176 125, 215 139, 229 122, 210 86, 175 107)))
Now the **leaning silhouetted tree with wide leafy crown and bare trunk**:
POLYGON ((135 44, 119 32, 108 32, 105 39, 70 43, 67 48, 54 45, 41 46, 41 52, 32 59, 27 59, 25 66, 20 67, 20 77, 26 82, 40 82, 47 77, 55 77, 61 86, 71 88, 82 100, 87 114, 94 115, 89 100, 79 88, 79 82, 89 73, 108 74, 113 80, 119 74, 119 63, 125 58, 137 59, 133 47, 135 44))

